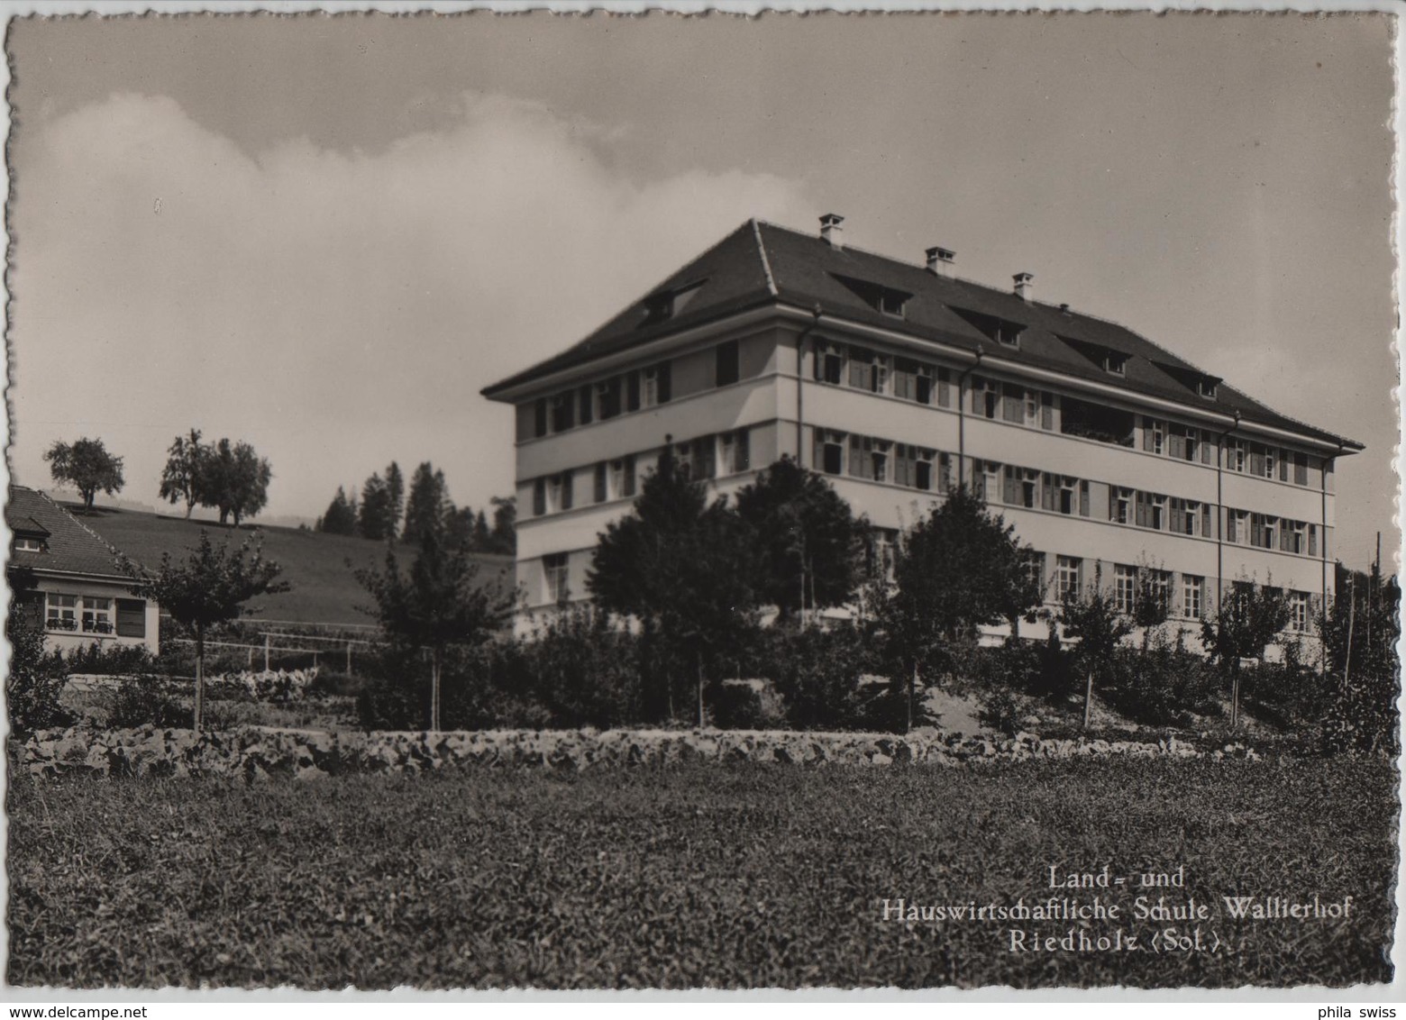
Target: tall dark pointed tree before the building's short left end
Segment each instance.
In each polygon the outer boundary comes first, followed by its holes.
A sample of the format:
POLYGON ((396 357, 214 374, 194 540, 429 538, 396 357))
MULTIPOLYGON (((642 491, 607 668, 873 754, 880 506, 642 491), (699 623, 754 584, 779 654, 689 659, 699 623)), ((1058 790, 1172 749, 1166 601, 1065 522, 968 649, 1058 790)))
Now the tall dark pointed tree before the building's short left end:
POLYGON ((725 652, 755 625, 749 548, 725 499, 709 504, 704 485, 678 469, 668 447, 633 511, 596 542, 586 590, 605 611, 638 620, 659 653, 643 691, 651 718, 673 718, 675 687, 692 667, 702 725, 709 674, 718 679, 725 652))

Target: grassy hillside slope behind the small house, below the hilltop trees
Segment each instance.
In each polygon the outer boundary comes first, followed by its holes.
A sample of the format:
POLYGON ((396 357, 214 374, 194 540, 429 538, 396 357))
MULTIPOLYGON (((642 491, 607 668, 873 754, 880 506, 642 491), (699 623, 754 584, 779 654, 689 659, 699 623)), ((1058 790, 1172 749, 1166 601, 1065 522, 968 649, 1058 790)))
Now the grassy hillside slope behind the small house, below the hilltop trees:
MULTIPOLYGON (((209 531, 217 542, 222 540, 242 542, 254 530, 252 525, 243 525, 235 531, 209 521, 187 521, 112 507, 98 507, 91 516, 84 516, 75 506, 69 506, 69 510, 76 511, 80 521, 128 556, 149 566, 159 563, 165 552, 170 552, 173 559, 181 558, 186 549, 200 541, 201 528, 209 531)), ((367 604, 367 596, 352 576, 352 570, 384 563, 385 545, 366 538, 323 535, 297 528, 259 528, 259 531, 263 534, 264 555, 283 566, 284 579, 292 584, 291 591, 250 603, 262 608, 262 617, 297 622, 371 622, 368 615, 357 611, 357 606, 367 604)), ((401 547, 398 552, 402 563, 409 566, 413 549, 401 547)), ((482 579, 506 572, 505 582, 512 583, 512 558, 477 555, 474 559, 479 563, 482 579)))

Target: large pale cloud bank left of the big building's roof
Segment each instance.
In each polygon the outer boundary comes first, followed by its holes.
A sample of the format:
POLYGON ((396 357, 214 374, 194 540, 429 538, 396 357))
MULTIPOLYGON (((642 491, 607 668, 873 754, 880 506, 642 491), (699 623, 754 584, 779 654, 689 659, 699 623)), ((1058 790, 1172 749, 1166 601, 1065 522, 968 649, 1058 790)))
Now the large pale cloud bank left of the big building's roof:
POLYGON ((630 180, 628 125, 465 94, 375 155, 249 156, 173 100, 120 94, 15 142, 18 480, 103 436, 155 502, 191 426, 252 441, 270 513, 315 514, 391 458, 454 497, 512 482, 510 410, 478 391, 547 357, 748 216, 804 222, 801 185, 630 180))

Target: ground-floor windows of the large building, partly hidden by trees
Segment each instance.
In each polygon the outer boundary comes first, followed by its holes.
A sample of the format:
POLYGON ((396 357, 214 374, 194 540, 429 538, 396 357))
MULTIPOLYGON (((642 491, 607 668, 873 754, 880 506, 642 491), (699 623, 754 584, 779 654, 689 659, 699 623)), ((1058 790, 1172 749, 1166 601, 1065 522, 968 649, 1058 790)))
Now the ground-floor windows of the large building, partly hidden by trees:
MULTIPOLYGON (((896 535, 893 532, 876 531, 870 542, 870 569, 882 573, 891 573, 893 549, 896 535)), ((548 603, 565 601, 569 594, 569 563, 565 552, 543 556, 543 579, 548 603)), ((1056 556, 1054 572, 1046 582, 1045 554, 1032 552, 1028 569, 1035 583, 1053 601, 1063 601, 1066 597, 1076 599, 1084 586, 1084 561, 1078 556, 1056 556)), ((1137 568, 1125 563, 1114 566, 1112 603, 1118 613, 1132 614, 1139 599, 1139 587, 1146 596, 1156 599, 1161 604, 1163 613, 1168 617, 1182 620, 1202 620, 1209 608, 1209 591, 1206 579, 1201 575, 1182 573, 1178 576, 1171 570, 1154 568, 1137 568), (1146 577, 1144 584, 1139 584, 1139 577, 1146 577)), ((1294 632, 1306 632, 1312 620, 1313 597, 1306 591, 1291 591, 1289 625, 1294 632)))

